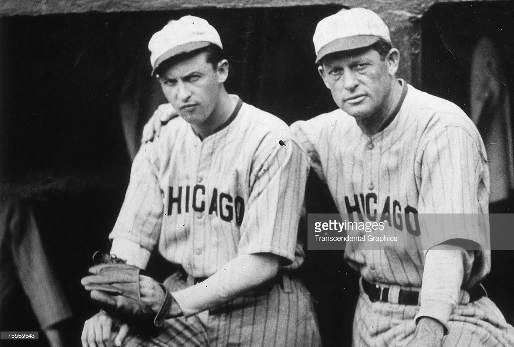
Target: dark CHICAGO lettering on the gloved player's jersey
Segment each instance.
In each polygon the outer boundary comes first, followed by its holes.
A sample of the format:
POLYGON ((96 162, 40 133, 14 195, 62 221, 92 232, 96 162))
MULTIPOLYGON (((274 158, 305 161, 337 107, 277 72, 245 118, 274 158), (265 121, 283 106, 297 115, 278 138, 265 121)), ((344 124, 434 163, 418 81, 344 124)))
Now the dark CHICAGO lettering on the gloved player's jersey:
POLYGON ((210 215, 215 214, 227 222, 231 222, 235 217, 236 224, 241 226, 245 216, 245 199, 241 196, 233 197, 228 193, 218 193, 217 188, 212 190, 212 194, 206 193, 204 185, 169 187, 166 214, 170 216, 173 209, 177 214, 208 211, 210 215), (208 199, 208 196, 211 198, 208 199), (209 201, 206 201, 206 198, 209 201))

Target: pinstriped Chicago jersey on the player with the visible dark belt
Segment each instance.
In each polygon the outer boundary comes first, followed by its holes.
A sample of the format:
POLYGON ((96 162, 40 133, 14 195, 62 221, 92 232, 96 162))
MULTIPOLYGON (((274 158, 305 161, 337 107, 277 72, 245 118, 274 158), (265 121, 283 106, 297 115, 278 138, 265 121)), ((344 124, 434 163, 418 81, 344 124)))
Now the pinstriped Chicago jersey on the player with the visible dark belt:
MULTIPOLYGON (((487 213, 489 173, 482 139, 467 115, 447 100, 399 83, 405 95, 401 107, 391 124, 371 137, 340 109, 291 128, 340 213, 384 214, 390 229, 415 245, 398 250, 387 243, 377 249, 348 242, 345 257, 351 266, 371 282, 419 288, 424 250, 454 238, 487 250, 489 230, 447 226, 424 233, 410 230, 407 219, 417 213, 487 213)), ((490 270, 490 252, 481 255, 470 286, 490 270)))

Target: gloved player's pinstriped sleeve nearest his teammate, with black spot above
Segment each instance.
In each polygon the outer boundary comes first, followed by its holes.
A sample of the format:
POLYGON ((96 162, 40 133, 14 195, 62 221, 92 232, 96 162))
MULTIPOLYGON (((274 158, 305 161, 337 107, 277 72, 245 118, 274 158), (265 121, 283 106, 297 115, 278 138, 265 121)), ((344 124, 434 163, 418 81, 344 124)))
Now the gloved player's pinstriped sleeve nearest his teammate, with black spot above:
POLYGON ((264 138, 250 173, 250 196, 238 255, 272 253, 295 260, 309 159, 295 141, 264 138), (276 145, 275 145, 276 144, 276 145))

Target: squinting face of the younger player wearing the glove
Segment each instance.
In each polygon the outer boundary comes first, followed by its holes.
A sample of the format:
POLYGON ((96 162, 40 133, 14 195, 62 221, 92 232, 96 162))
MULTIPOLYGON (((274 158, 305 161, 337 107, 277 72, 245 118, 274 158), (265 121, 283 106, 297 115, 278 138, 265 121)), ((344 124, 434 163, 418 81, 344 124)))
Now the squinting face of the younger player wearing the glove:
MULTIPOLYGON (((193 126, 212 126, 222 85, 228 77, 228 62, 213 67, 206 52, 178 60, 158 76, 164 96, 179 116, 193 126)), ((215 126, 215 125, 214 125, 215 126)))

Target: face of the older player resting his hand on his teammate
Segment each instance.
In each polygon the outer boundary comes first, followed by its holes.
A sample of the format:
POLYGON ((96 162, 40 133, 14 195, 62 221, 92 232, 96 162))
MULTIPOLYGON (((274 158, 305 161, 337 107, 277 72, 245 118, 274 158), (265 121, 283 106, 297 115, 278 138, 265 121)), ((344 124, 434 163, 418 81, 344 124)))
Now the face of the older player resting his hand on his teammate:
POLYGON ((380 111, 389 109, 386 104, 397 68, 396 49, 391 49, 382 60, 370 48, 326 56, 318 69, 339 108, 360 120, 381 117, 380 111))

